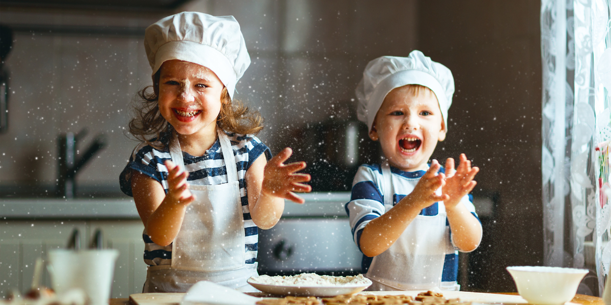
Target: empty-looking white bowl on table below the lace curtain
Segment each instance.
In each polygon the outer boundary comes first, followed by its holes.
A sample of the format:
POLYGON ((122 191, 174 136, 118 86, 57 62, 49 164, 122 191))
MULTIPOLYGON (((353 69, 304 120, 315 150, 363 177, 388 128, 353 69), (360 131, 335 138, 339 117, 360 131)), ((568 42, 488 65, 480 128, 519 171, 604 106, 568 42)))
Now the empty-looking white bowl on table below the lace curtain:
POLYGON ((560 267, 507 267, 518 293, 530 304, 561 305, 573 300, 587 269, 560 267))

